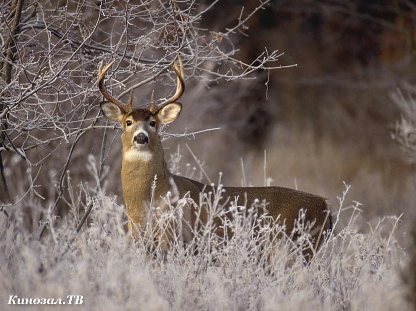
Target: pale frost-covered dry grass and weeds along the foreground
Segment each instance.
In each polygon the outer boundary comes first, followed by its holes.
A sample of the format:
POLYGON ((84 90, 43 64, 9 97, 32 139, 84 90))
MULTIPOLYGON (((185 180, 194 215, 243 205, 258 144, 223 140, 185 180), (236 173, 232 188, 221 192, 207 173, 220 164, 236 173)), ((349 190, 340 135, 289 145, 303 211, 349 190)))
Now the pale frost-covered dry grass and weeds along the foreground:
MULTIPOLYGON (((149 242, 132 243, 123 229, 124 208, 103 191, 94 198, 88 225, 76 234, 83 212, 77 198, 88 191, 83 185, 74 187, 70 214, 56 219, 54 229, 41 241, 39 228, 32 233, 25 223, 22 203, 9 221, 0 217, 2 309, 17 309, 6 305, 10 294, 80 294, 85 301, 80 309, 88 310, 410 309, 400 276, 407 254, 396 240, 399 219, 371 221, 368 233, 361 233, 356 228, 362 217, 359 204, 347 203, 347 190, 339 204, 333 205, 334 233, 309 265, 301 254, 309 243, 302 221, 298 230, 303 233, 294 242, 288 237, 280 240, 272 262, 268 260, 269 237, 281 228, 264 221, 259 224, 262 234, 252 234, 250 213, 225 223, 234 236, 224 247, 213 247, 219 239, 210 233, 208 224, 187 247, 176 239, 171 253, 163 258, 156 247, 156 258, 149 260, 149 242), (349 219, 343 227, 338 221, 342 214, 349 219)), ((212 211, 221 207, 215 199, 212 205, 206 199, 203 202, 212 211)), ((234 208, 236 215, 239 208, 234 208)), ((172 206, 166 217, 174 212, 172 206)), ((61 308, 65 307, 50 306, 61 308)))

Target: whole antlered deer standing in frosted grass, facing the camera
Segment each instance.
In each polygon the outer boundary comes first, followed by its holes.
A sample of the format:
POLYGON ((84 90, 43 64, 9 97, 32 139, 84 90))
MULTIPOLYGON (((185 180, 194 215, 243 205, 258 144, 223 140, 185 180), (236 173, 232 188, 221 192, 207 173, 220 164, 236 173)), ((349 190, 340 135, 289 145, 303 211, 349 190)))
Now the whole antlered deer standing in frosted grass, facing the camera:
MULTIPOLYGON (((156 230, 145 230, 151 222, 151 204, 157 206, 159 213, 167 208, 166 200, 170 194, 170 203, 174 204, 180 198, 187 197, 189 204, 182 210, 182 220, 186 225, 181 226, 181 239, 188 243, 193 237, 197 221, 206 221, 206 212, 199 212, 198 202, 201 193, 207 192, 212 185, 206 185, 196 180, 171 173, 164 159, 159 129, 162 124, 173 122, 180 114, 182 104, 177 100, 185 89, 183 62, 178 54, 173 60, 172 69, 176 73, 175 93, 156 105, 154 91, 151 95, 150 107, 133 108, 133 95, 130 92, 127 104, 114 97, 106 88, 104 80, 108 69, 115 60, 103 68, 101 61, 98 69, 98 88, 108 101, 101 102, 100 108, 106 119, 120 124, 122 128, 122 160, 121 185, 128 217, 128 231, 133 239, 143 234, 155 234, 156 230), (177 64, 179 61, 179 66, 177 64), (156 187, 152 187, 157 178, 156 187), (147 233, 145 233, 147 232, 147 233)), ((215 188, 214 188, 215 189, 215 188)), ((314 248, 322 243, 323 233, 332 230, 330 208, 326 198, 311 193, 280 187, 280 186, 248 186, 222 188, 222 200, 238 198, 239 204, 250 204, 257 200, 267 202, 267 212, 274 221, 285 223, 286 232, 290 233, 294 222, 298 219, 300 210, 305 210, 305 220, 313 224, 311 238, 314 248)), ((227 205, 227 204, 225 204, 227 205)), ((216 233, 224 234, 221 230, 221 219, 216 218, 216 233)), ((232 232, 226 232, 232 234, 232 232)), ((169 241, 174 234, 165 236, 150 236, 162 242, 164 251, 169 250, 169 241)), ((309 251, 310 252, 310 251, 309 251)), ((310 255, 310 254, 309 254, 310 255)))

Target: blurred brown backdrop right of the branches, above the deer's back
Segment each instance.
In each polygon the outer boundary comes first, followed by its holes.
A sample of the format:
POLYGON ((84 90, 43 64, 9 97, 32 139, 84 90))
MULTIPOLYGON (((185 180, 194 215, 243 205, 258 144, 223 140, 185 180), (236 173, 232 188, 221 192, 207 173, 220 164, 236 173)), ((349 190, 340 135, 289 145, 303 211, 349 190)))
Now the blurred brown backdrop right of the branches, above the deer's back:
MULTIPOLYGON (((257 3, 245 1, 246 9, 257 3)), ((204 26, 233 24, 241 2, 227 7, 220 4, 204 26)), ((250 62, 266 46, 285 53, 282 65, 297 66, 188 87, 169 130, 221 130, 166 146, 180 144, 184 161, 195 165, 182 147, 188 143, 211 179, 224 172, 226 185, 241 185, 241 158, 248 181, 263 185, 266 150, 273 185, 297 184, 328 197, 336 210, 345 181, 366 219, 404 212, 414 220, 416 166, 392 139, 402 115, 392 96, 407 96, 416 78, 415 6, 409 8, 395 1, 272 1, 250 20, 248 36, 238 37, 238 54, 250 62)))

